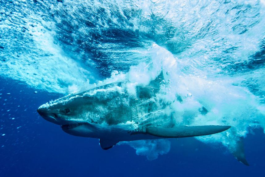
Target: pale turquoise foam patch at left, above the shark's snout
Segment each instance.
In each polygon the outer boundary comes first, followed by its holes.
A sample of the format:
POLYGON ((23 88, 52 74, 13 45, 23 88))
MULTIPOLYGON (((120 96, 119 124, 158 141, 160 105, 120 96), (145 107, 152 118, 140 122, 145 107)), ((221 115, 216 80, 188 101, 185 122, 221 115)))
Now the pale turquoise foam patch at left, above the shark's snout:
MULTIPOLYGON (((39 17, 32 16, 32 18, 39 17)), ((48 25, 47 22, 38 20, 48 25)), ((88 79, 94 79, 88 70, 66 56, 60 46, 55 44, 53 32, 48 31, 41 24, 35 24, 34 28, 30 24, 31 22, 28 22, 26 26, 32 35, 32 48, 41 50, 39 55, 22 53, 19 57, 8 56, 7 62, 0 68, 2 75, 24 81, 38 89, 58 93, 67 93, 68 87, 84 85, 87 84, 88 79)), ((72 91, 70 89, 70 92, 72 91)), ((79 90, 76 88, 74 91, 79 90)))

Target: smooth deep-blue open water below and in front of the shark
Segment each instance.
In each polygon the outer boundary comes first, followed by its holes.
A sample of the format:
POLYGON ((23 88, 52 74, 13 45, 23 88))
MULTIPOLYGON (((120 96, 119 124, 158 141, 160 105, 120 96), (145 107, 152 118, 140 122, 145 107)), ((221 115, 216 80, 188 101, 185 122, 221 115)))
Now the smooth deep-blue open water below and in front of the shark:
POLYGON ((255 129, 244 140, 250 166, 237 162, 222 146, 194 138, 171 139, 169 153, 148 161, 128 145, 102 150, 97 139, 68 135, 58 125, 42 119, 36 112, 38 106, 61 95, 34 90, 14 80, 0 81, 1 176, 263 174, 265 136, 261 129, 255 129))

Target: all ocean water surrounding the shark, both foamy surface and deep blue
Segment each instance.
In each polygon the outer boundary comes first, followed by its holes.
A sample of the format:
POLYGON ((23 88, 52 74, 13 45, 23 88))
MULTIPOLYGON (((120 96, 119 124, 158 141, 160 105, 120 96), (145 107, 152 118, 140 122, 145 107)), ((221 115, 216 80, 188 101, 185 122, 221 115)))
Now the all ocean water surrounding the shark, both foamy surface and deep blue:
POLYGON ((263 176, 264 83, 264 0, 0 0, 0 176, 263 176), (161 71, 176 125, 231 128, 103 150, 36 112, 112 82, 134 94, 161 71))

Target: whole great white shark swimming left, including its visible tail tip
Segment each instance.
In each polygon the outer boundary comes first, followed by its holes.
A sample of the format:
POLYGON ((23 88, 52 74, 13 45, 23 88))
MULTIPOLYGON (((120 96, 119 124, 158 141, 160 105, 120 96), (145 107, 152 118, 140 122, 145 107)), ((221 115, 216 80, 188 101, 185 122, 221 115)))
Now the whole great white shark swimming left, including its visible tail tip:
MULTIPOLYGON (((229 125, 177 125, 168 111, 170 103, 161 100, 161 87, 165 86, 163 72, 149 84, 136 86, 134 94, 128 92, 128 84, 105 84, 68 95, 41 105, 37 112, 45 120, 61 125, 68 134, 100 139, 102 149, 120 141, 204 136, 230 128, 229 125)), ((202 110, 202 114, 207 113, 205 108, 202 110)), ((248 165, 240 148, 233 155, 248 165)))

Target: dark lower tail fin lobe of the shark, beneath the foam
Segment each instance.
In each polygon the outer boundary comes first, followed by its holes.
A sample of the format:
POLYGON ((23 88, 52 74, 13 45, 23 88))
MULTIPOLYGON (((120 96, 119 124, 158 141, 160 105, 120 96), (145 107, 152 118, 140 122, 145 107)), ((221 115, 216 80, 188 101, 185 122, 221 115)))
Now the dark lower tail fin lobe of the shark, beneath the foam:
POLYGON ((234 142, 231 142, 228 146, 230 152, 233 154, 233 156, 241 163, 250 166, 248 162, 246 161, 245 157, 245 151, 244 151, 244 144, 242 138, 239 138, 239 140, 236 140, 234 142))

